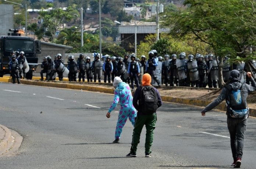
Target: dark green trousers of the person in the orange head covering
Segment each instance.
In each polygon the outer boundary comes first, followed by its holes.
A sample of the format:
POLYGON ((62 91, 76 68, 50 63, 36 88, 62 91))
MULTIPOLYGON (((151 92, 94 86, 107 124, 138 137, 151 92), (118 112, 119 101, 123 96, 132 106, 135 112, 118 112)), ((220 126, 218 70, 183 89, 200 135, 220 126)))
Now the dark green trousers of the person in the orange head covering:
POLYGON ((146 126, 145 153, 151 153, 150 148, 153 144, 154 129, 156 128, 156 113, 147 115, 138 115, 135 121, 134 132, 132 136, 131 151, 136 153, 141 131, 146 126))

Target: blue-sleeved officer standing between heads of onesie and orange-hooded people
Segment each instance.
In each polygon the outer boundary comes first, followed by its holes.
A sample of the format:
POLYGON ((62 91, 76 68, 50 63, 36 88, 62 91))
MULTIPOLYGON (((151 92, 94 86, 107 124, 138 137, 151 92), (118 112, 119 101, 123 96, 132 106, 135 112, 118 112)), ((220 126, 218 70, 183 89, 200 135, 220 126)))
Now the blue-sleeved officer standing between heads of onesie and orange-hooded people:
POLYGON ((136 56, 134 53, 131 54, 131 63, 129 63, 128 66, 128 75, 131 78, 131 87, 132 87, 132 91, 134 91, 134 80, 135 80, 135 84, 136 87, 139 87, 139 73, 140 73, 140 68, 139 68, 139 64, 138 62, 135 61, 136 56))

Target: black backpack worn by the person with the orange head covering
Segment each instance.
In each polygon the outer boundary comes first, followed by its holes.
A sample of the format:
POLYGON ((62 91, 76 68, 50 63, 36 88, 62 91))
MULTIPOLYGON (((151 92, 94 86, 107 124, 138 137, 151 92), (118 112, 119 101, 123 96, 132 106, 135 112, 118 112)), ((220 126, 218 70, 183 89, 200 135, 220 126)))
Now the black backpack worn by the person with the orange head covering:
POLYGON ((157 110, 157 93, 152 86, 142 86, 139 106, 142 114, 152 114, 157 110))

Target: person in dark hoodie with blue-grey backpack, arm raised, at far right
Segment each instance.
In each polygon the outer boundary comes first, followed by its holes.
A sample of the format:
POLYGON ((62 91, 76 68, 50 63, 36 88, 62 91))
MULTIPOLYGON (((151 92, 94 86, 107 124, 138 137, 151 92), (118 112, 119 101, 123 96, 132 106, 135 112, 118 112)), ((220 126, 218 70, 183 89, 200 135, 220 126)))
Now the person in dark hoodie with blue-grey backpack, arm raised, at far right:
POLYGON ((230 132, 230 144, 234 162, 232 166, 234 168, 240 168, 241 159, 243 155, 243 142, 244 135, 247 127, 247 119, 249 117, 249 109, 246 103, 246 98, 248 94, 256 90, 256 82, 252 78, 251 72, 247 72, 248 79, 252 86, 248 84, 242 84, 239 81, 239 71, 232 70, 230 73, 230 82, 226 85, 218 98, 216 98, 213 102, 206 106, 203 109, 202 116, 205 116, 205 113, 216 107, 223 100, 226 100, 227 103, 227 124, 228 131, 230 132), (233 94, 239 91, 237 95, 233 94), (238 118, 236 116, 237 112, 242 112, 244 110, 244 117, 238 118), (246 111, 245 111, 246 110, 246 111))

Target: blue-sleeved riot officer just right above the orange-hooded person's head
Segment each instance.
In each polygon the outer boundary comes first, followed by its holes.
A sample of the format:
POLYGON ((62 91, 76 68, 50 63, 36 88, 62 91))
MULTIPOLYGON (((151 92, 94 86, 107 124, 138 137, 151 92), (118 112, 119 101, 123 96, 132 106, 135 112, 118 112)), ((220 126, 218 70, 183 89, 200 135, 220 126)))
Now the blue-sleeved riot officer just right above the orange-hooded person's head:
POLYGON ((149 52, 149 60, 147 60, 147 63, 146 63, 146 72, 151 75, 151 77, 156 81, 156 83, 160 87, 161 84, 159 82, 159 79, 156 76, 157 65, 158 65, 158 63, 157 63, 156 59, 154 58, 154 52, 151 50, 149 52))

